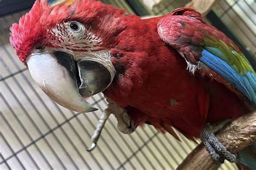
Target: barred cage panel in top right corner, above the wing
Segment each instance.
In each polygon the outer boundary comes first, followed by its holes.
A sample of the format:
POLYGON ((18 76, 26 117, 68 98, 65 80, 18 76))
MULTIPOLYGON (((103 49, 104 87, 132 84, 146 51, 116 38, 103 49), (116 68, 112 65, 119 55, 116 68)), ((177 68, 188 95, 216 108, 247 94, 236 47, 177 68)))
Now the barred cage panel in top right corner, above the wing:
POLYGON ((218 1, 213 11, 246 49, 256 56, 256 2, 218 1))

